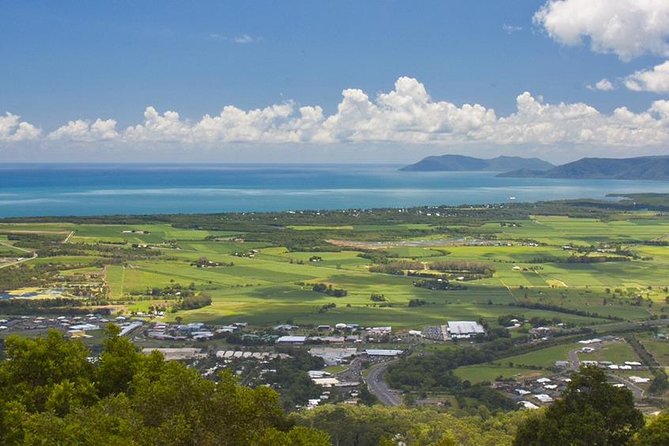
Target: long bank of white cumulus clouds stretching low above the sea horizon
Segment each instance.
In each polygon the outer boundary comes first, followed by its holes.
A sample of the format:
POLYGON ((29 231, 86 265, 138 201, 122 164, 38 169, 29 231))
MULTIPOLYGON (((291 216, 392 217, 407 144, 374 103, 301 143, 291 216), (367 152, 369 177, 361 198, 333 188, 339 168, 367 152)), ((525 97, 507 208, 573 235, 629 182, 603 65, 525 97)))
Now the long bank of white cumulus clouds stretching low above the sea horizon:
MULTIPOLYGON (((39 136, 39 130, 23 124, 37 132, 32 138, 39 136)), ((0 140, 26 138, 27 127, 20 128, 17 116, 0 118, 0 140)), ((147 107, 143 121, 125 129, 117 130, 113 119, 76 120, 46 139, 53 143, 111 141, 122 147, 229 143, 659 147, 669 144, 669 101, 655 101, 642 112, 621 107, 605 114, 588 104, 545 103, 524 92, 516 98, 515 112, 498 116, 481 104, 435 100, 418 80, 401 77, 391 91, 374 97, 360 89, 345 89, 330 115, 320 106, 294 102, 250 110, 228 105, 219 114, 197 120, 147 107)))

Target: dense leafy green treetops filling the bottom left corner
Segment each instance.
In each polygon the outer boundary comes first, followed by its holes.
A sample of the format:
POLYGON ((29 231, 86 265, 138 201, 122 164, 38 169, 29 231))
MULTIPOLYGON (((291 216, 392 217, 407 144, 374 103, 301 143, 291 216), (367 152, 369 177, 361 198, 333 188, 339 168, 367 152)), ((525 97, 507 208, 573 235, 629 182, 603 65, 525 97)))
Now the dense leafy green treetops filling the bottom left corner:
POLYGON ((109 329, 95 363, 56 331, 11 337, 0 363, 0 444, 328 445, 325 433, 293 427, 276 392, 218 383, 154 353, 140 355, 109 329))

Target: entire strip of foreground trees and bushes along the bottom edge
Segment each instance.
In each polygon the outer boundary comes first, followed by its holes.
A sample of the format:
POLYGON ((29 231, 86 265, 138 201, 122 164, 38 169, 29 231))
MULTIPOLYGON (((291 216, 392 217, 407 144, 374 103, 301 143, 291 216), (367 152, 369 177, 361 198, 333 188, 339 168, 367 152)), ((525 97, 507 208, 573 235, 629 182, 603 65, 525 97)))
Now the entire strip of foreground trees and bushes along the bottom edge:
POLYGON ((7 446, 669 444, 669 415, 642 428, 630 392, 608 385, 599 369, 574 375, 564 399, 531 415, 328 405, 286 417, 273 390, 242 387, 225 372, 210 381, 158 353, 143 356, 111 326, 96 361, 56 331, 8 338, 0 392, 7 446))

